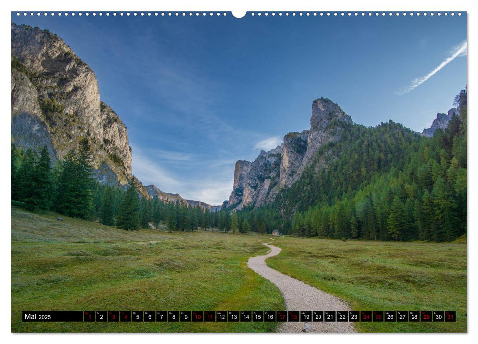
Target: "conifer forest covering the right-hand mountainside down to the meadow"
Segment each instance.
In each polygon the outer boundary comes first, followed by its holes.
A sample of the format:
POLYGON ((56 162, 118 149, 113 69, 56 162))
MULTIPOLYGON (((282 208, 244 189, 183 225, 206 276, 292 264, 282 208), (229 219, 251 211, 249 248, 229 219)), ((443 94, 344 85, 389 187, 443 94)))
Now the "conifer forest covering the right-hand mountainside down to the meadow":
POLYGON ((326 167, 310 164, 273 204, 239 218, 267 232, 335 239, 451 241, 466 233, 466 89, 459 116, 424 137, 389 121, 341 125, 321 148, 326 167), (325 157, 325 158, 324 158, 325 157))

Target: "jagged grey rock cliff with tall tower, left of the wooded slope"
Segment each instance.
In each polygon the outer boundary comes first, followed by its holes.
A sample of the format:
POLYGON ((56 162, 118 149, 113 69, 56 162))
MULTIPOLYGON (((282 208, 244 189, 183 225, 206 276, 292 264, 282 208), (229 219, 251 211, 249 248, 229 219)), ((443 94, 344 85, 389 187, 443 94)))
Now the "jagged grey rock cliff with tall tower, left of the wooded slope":
POLYGON ((306 166, 325 164, 314 159, 320 147, 340 139, 340 122, 352 123, 352 119, 331 100, 314 100, 310 130, 288 133, 280 146, 269 152, 261 151, 252 163, 236 162, 234 186, 227 206, 240 210, 271 203, 281 189, 295 183, 306 166))

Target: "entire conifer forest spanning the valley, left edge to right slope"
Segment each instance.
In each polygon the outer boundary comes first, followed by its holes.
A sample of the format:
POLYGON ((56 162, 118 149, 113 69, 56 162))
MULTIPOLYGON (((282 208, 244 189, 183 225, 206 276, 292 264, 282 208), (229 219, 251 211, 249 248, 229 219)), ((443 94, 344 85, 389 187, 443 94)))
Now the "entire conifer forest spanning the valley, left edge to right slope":
POLYGON ((432 138, 392 121, 376 127, 333 123, 342 126, 341 139, 323 146, 274 203, 257 209, 210 212, 142 198, 134 181, 126 190, 100 185, 86 138, 54 166, 46 147, 37 154, 12 144, 12 200, 31 211, 127 230, 279 229, 343 240, 451 241, 466 233, 466 98, 462 90, 455 98, 460 115, 432 138))

